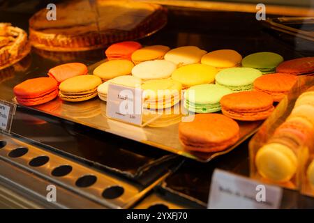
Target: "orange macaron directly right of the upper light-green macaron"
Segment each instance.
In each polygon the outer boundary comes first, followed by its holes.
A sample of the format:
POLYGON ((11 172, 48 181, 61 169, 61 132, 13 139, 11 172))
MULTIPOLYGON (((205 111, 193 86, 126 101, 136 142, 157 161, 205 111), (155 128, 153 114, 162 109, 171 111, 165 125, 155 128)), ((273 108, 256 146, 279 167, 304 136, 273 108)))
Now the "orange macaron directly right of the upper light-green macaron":
POLYGON ((254 90, 267 93, 274 98, 275 102, 280 102, 296 82, 295 75, 275 73, 258 77, 253 86, 254 90))

